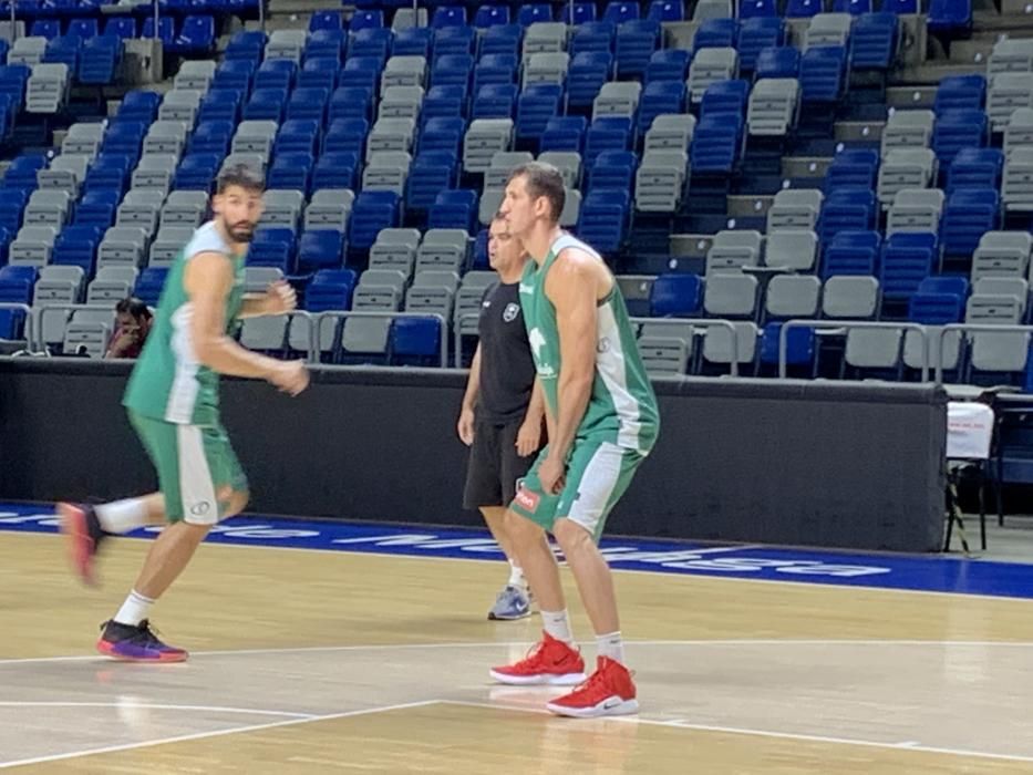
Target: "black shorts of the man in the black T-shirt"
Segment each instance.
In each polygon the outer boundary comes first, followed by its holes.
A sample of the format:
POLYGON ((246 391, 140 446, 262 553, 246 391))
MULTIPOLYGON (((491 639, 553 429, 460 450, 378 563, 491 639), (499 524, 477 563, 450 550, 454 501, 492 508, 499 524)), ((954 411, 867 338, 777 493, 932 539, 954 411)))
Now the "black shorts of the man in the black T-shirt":
POLYGON ((502 424, 481 420, 474 423, 463 508, 508 506, 516 497, 517 479, 527 476, 538 454, 537 450, 528 457, 517 454, 516 437, 523 423, 523 417, 502 424))

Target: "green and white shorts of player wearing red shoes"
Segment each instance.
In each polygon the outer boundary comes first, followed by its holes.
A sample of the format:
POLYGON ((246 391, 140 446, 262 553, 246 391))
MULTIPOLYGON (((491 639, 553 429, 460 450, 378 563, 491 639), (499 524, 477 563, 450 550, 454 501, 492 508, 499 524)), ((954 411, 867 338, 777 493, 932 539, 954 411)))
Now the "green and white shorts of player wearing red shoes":
POLYGON ((564 490, 559 495, 546 495, 538 468, 548 454, 549 447, 545 447, 538 455, 527 477, 520 482, 510 510, 550 533, 557 519, 570 519, 598 541, 607 517, 627 492, 645 456, 611 442, 578 440, 570 453, 564 490))

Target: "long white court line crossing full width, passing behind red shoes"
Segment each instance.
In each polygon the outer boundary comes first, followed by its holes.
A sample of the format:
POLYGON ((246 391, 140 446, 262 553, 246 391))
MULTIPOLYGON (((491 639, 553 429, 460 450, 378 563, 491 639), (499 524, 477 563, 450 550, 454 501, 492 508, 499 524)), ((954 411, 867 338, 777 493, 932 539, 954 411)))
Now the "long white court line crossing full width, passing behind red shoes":
MULTIPOLYGON (((901 647, 960 647, 960 648, 1017 648, 1029 649, 1033 647, 1033 641, 980 641, 980 640, 901 640, 901 639, 880 639, 880 638, 724 638, 715 640, 633 640, 624 639, 624 644, 630 647, 657 647, 657 645, 693 645, 693 647, 717 647, 717 645, 901 645, 901 647)), ((278 647, 270 649, 225 649, 213 651, 192 651, 190 657, 247 657, 249 654, 287 654, 287 653, 320 653, 337 651, 394 651, 405 649, 512 649, 530 648, 531 641, 464 641, 458 643, 365 643, 357 645, 299 645, 299 647, 278 647)), ((96 661, 102 664, 125 664, 127 669, 142 670, 185 670, 189 662, 178 664, 141 664, 131 662, 117 662, 101 654, 72 654, 68 657, 24 657, 13 659, 0 659, 0 668, 18 664, 33 664, 47 662, 91 662, 96 661)), ((2 704, 2 703, 0 703, 2 704)))

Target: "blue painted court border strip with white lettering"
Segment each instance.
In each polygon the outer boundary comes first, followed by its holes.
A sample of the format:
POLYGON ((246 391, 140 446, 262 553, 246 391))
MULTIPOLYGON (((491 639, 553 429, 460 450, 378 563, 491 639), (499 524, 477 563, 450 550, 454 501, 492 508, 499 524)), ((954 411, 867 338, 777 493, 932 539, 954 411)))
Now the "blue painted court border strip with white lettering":
MULTIPOLYGON (((0 531, 56 533, 50 506, 0 504, 0 531)), ((159 528, 130 534, 147 538, 159 528)), ((247 516, 217 525, 214 544, 318 551, 499 560, 486 530, 436 526, 316 521, 247 516)), ((765 546, 605 538, 601 548, 619 570, 874 587, 926 592, 1033 599, 1033 565, 946 556, 895 556, 796 550, 765 546)))

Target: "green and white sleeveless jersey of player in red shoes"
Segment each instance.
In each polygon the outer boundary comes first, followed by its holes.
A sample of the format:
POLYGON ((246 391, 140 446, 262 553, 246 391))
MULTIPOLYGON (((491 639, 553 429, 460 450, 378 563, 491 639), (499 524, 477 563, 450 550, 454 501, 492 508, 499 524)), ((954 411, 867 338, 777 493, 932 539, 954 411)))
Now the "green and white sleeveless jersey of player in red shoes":
MULTIPOLYGON (((559 407, 559 328, 556 308, 545 294, 545 279, 565 248, 598 254, 570 235, 561 235, 549 248, 541 268, 528 261, 520 280, 520 304, 531 352, 545 397, 552 415, 559 407)), ((577 437, 609 441, 618 446, 649 453, 660 430, 657 395, 645 373, 628 316, 624 298, 613 283, 610 294, 599 302, 596 332, 596 376, 591 399, 577 437)))

